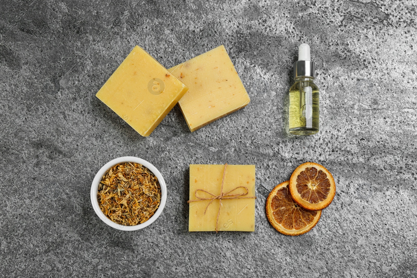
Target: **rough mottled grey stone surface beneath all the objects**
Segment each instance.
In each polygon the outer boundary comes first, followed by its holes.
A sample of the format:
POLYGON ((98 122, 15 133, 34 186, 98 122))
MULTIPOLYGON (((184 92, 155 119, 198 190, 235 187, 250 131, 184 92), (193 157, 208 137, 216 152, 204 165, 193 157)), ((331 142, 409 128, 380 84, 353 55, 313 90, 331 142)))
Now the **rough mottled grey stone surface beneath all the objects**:
POLYGON ((1 277, 416 277, 417 3, 1 1, 1 277), (288 89, 311 45, 321 131, 292 136, 288 89), (95 98, 140 45, 167 68, 224 44, 251 103, 190 133, 178 110, 143 138, 95 98), (144 230, 106 226, 90 185, 133 155, 161 171, 144 230), (334 175, 315 228, 285 236, 265 199, 300 163, 334 175), (254 233, 189 233, 188 164, 255 164, 254 233))

